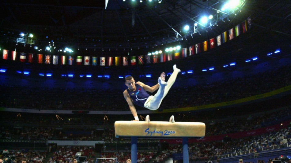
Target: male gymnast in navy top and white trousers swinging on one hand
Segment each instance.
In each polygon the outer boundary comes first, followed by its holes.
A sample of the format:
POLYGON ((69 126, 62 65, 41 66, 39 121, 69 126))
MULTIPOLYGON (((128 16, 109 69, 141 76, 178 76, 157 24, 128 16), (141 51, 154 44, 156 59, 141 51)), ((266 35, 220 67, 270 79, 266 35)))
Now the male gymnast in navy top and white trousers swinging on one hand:
POLYGON ((181 72, 181 70, 178 69, 176 65, 173 66, 173 69, 174 71, 170 76, 168 82, 165 82, 165 73, 163 72, 161 73, 161 76, 158 78, 158 83, 152 87, 149 87, 148 85, 139 81, 135 83, 134 78, 132 76, 127 76, 125 78, 125 85, 128 88, 123 92, 123 96, 128 103, 132 115, 134 116, 134 121, 139 120, 134 104, 137 106, 145 107, 150 110, 159 109, 162 100, 164 99, 164 97, 167 95, 168 91, 174 84, 178 73, 181 72), (149 95, 146 92, 146 91, 154 92, 157 89, 158 89, 157 93, 153 96, 149 95))

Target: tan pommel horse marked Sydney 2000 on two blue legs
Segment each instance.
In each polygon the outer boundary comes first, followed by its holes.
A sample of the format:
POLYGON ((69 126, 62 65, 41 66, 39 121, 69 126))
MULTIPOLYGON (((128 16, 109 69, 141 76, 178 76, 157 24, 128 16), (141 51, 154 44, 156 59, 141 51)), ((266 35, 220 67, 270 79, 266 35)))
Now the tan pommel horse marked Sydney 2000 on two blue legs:
POLYGON ((137 162, 137 138, 182 138, 183 163, 189 163, 188 138, 203 138, 205 124, 202 122, 115 121, 115 137, 131 137, 131 162, 137 162))

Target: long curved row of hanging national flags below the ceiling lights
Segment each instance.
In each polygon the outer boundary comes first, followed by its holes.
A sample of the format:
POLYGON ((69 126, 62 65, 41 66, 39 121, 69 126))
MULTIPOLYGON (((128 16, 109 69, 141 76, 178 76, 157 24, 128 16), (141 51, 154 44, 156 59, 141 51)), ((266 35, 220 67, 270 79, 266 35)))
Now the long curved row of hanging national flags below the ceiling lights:
MULTIPOLYGON (((207 51, 220 46, 221 44, 227 42, 228 40, 238 37, 241 32, 246 32, 248 28, 251 28, 251 18, 248 17, 241 24, 236 25, 234 28, 223 32, 216 38, 212 38, 204 41, 203 43, 197 43, 193 46, 182 48, 181 50, 154 54, 154 55, 140 55, 132 57, 92 57, 92 56, 58 56, 58 55, 43 55, 43 54, 31 54, 31 53, 19 53, 17 57, 17 51, 11 51, 11 60, 16 61, 19 58, 21 62, 29 63, 44 63, 53 65, 100 65, 100 66, 127 66, 127 65, 143 65, 150 63, 159 63, 165 61, 172 61, 172 59, 184 58, 187 56, 198 54, 202 51, 207 51), (36 57, 36 59, 35 59, 36 57)), ((8 50, 3 50, 3 59, 8 59, 8 50)))

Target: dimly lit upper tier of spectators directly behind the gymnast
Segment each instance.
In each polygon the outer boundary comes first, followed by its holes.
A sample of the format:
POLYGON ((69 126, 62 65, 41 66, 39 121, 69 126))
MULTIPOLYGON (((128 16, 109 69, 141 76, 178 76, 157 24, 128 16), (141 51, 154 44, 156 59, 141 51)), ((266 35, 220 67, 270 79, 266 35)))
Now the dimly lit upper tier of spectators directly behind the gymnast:
MULTIPOLYGON (((171 91, 164 98, 161 108, 202 106, 274 91, 291 85, 290 69, 291 65, 287 65, 242 78, 171 88, 171 91)), ((129 110, 122 95, 125 88, 70 89, 2 84, 0 89, 2 90, 2 94, 0 94, 1 107, 41 110, 129 110)))

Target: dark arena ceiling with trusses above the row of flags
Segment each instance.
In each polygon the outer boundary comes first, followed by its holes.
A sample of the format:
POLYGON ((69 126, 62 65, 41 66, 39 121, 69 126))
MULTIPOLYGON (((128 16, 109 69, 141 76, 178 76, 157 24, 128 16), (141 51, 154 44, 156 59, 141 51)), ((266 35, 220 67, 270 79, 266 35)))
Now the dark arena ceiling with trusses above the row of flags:
MULTIPOLYGON (((25 32, 34 34, 38 46, 47 46, 54 40, 57 48, 88 49, 90 54, 127 55, 133 52, 145 55, 166 45, 187 47, 209 40, 251 17, 247 33, 206 52, 221 55, 205 55, 201 62, 213 64, 222 62, 222 58, 232 61, 240 54, 265 55, 276 48, 290 47, 291 1, 245 0, 231 12, 217 12, 226 2, 109 0, 105 9, 103 0, 4 0, 0 2, 1 46, 6 44, 14 48, 15 38, 25 32), (201 17, 209 14, 214 16, 211 24, 199 24, 201 17), (194 31, 195 22, 198 27, 194 31), (183 31, 186 24, 190 26, 189 32, 183 31)), ((30 47, 21 45, 18 48, 30 47)))

